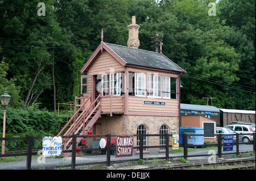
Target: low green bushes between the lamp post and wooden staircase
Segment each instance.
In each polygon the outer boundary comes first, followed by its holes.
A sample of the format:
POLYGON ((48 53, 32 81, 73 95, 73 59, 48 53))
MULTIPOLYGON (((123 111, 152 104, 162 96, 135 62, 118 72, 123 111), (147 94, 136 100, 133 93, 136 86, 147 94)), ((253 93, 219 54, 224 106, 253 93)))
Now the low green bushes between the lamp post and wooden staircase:
MULTIPOLYGON (((57 113, 39 110, 37 104, 26 109, 6 108, 6 137, 53 136, 59 133, 62 126, 57 113)), ((0 109, 2 129, 3 109, 0 109)))

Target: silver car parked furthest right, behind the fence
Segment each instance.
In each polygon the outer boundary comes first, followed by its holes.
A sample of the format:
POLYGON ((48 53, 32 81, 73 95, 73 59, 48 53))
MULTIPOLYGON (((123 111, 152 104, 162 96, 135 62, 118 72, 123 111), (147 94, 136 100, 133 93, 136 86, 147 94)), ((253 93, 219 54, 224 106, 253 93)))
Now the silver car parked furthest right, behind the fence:
POLYGON ((232 124, 232 125, 226 125, 225 128, 232 128, 235 132, 240 134, 246 134, 246 135, 240 135, 238 136, 238 140, 242 142, 250 142, 253 141, 253 126, 251 125, 244 125, 244 124, 232 124))

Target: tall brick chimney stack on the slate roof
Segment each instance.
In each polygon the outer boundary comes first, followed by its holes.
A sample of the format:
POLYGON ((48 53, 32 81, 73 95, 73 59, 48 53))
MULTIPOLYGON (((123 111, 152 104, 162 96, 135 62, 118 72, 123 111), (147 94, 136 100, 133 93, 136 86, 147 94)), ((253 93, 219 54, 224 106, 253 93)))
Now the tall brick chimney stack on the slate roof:
POLYGON ((127 41, 127 46, 132 48, 139 47, 139 26, 136 24, 136 16, 131 17, 131 24, 128 27, 129 39, 127 41))

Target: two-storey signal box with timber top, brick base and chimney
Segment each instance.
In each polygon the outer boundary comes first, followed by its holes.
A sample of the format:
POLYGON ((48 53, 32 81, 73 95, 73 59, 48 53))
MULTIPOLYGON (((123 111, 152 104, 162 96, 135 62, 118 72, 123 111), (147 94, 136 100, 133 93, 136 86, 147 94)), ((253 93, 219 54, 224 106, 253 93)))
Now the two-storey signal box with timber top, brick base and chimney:
MULTIPOLYGON (((81 95, 69 121, 75 124, 59 135, 179 133, 180 76, 185 70, 164 56, 162 47, 160 53, 138 49, 135 16, 128 28, 127 47, 105 43, 102 33, 81 69, 81 95)), ((139 140, 134 139, 136 146, 139 140)), ((143 144, 165 145, 165 138, 144 137, 143 144)))

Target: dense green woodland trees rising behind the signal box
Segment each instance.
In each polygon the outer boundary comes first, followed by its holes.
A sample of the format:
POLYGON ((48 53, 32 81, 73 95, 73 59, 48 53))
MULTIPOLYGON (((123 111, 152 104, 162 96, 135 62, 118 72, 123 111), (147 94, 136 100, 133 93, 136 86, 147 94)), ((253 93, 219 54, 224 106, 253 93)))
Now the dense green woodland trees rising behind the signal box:
MULTIPOLYGON (((104 41, 127 45, 136 15, 141 49, 163 35, 163 53, 187 71, 181 103, 255 110, 255 0, 0 0, 0 92, 10 107, 52 111, 79 96, 80 69, 104 41), (38 16, 39 2, 46 16, 38 16)), ((28 111, 28 110, 26 110, 28 111)), ((10 120, 9 120, 10 121, 10 120)), ((40 127, 39 127, 40 128, 40 127)), ((17 128, 13 128, 18 131, 17 128)))

